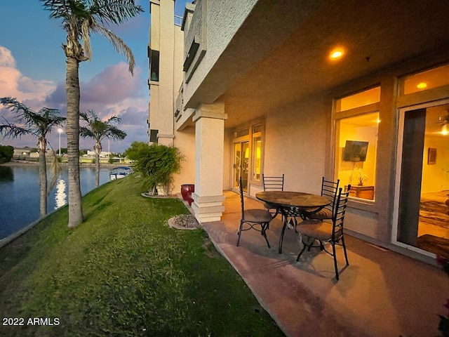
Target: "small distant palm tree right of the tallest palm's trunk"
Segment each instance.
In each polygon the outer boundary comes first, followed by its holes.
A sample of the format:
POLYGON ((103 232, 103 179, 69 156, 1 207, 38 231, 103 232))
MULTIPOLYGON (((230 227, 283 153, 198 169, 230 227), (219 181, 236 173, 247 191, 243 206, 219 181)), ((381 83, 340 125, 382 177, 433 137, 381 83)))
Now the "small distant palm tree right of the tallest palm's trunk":
POLYGON ((100 153, 102 151, 101 141, 105 138, 124 139, 126 132, 119 130, 115 124, 119 124, 120 117, 112 116, 107 121, 102 121, 95 114, 95 111, 89 110, 90 117, 86 112, 81 112, 79 117, 85 122, 80 126, 79 135, 81 137, 92 138, 95 140, 93 149, 95 150, 95 187, 100 185, 100 153))

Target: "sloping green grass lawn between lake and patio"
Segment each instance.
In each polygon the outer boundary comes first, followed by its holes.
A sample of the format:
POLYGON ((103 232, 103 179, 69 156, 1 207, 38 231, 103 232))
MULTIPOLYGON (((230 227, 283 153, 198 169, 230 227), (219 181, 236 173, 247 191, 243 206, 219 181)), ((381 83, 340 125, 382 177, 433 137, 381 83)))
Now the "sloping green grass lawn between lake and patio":
POLYGON ((79 227, 65 207, 0 249, 0 336, 283 336, 206 232, 168 227, 184 204, 140 192, 114 180, 79 227))

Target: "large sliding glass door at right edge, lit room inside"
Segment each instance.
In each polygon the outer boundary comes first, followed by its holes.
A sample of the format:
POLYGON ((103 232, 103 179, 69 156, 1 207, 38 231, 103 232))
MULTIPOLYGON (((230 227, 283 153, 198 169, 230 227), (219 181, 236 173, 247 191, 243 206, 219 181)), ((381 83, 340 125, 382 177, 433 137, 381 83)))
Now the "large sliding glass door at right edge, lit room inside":
POLYGON ((400 113, 393 241, 449 253, 449 103, 400 113), (447 203, 447 204, 446 204, 447 203))

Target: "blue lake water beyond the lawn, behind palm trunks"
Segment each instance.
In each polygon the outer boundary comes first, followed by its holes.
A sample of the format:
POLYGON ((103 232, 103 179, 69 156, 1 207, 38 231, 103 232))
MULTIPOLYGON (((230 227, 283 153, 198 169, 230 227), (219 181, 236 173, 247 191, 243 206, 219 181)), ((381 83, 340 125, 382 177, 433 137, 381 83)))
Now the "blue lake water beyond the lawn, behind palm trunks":
MULTIPOLYGON (((67 204, 68 170, 62 167, 58 182, 48 195, 48 212, 67 204)), ((81 167, 81 194, 95 188, 95 168, 81 167)), ((100 169, 100 185, 109 181, 109 168, 100 169)), ((39 167, 0 166, 0 239, 39 218, 39 167)))

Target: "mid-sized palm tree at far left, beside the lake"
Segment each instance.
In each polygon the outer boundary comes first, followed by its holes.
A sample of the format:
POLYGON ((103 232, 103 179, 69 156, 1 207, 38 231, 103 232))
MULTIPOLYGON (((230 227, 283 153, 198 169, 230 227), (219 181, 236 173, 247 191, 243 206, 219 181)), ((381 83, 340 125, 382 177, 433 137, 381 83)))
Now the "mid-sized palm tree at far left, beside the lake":
MULTIPOLYGON (((40 216, 43 217, 47 213, 47 196, 54 185, 47 183, 47 164, 46 149, 47 136, 51 132, 53 126, 61 125, 65 121, 65 117, 59 116, 59 111, 43 107, 38 112, 34 112, 29 107, 18 102, 15 98, 0 98, 0 103, 8 110, 15 113, 16 124, 9 123, 0 124, 0 134, 8 138, 17 138, 24 135, 30 135, 37 138, 37 149, 39 152, 39 189, 41 192, 40 216)), ((54 162, 57 161, 53 158, 54 162)), ((53 174, 55 176, 55 174, 53 174)), ((56 180, 53 179, 55 182, 56 180)))

